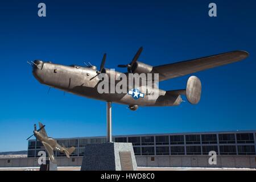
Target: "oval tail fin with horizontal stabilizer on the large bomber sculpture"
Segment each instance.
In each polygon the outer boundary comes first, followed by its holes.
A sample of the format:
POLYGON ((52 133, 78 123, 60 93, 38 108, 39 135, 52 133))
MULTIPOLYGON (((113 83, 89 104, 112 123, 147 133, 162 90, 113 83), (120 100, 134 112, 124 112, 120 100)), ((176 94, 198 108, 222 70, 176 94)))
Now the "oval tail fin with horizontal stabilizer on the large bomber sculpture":
POLYGON ((184 95, 190 104, 198 104, 201 98, 201 81, 196 76, 188 78, 186 89, 181 90, 170 90, 168 94, 173 95, 184 95))

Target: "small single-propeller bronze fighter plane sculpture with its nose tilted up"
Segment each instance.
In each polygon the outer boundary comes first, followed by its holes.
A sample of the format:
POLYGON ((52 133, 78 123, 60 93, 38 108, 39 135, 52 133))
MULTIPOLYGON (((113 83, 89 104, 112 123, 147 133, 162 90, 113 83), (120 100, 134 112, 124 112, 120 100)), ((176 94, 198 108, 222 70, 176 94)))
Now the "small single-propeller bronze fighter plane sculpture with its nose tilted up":
POLYGON ((43 146, 46 148, 46 151, 48 153, 49 159, 52 163, 57 163, 55 159, 55 155, 53 151, 59 151, 67 156, 67 158, 70 158, 69 155, 72 154, 73 151, 75 151, 75 147, 66 148, 63 144, 63 146, 60 146, 59 143, 56 142, 55 139, 48 137, 46 134, 46 130, 44 129, 46 125, 43 125, 39 122, 39 129, 36 130, 36 124, 34 125, 34 134, 27 138, 30 139, 31 137, 35 136, 36 139, 38 139, 40 142, 42 142, 43 146))

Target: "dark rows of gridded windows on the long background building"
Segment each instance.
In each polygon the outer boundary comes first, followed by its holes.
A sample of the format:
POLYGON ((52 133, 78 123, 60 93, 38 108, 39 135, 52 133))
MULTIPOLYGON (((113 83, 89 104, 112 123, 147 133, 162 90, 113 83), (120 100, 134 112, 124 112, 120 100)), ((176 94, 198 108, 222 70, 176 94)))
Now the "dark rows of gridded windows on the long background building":
MULTIPOLYGON (((255 155, 256 131, 233 131, 217 133, 180 133, 114 136, 115 142, 133 143, 136 156, 162 155, 255 155)), ((60 138, 61 146, 76 147, 71 156, 83 156, 84 146, 89 143, 104 143, 106 137, 60 138)), ((38 156, 44 150, 40 141, 28 141, 28 158, 38 156)), ((65 156, 55 152, 56 157, 65 156)))

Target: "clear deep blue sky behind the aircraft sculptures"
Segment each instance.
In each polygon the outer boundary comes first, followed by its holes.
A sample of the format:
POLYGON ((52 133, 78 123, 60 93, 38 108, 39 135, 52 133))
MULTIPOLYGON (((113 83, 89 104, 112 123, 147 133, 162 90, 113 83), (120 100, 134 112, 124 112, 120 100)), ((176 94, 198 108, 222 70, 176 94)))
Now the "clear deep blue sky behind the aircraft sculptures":
MULTIPOLYGON (((0 6, 0 151, 27 150, 34 123, 53 138, 106 134, 106 104, 39 84, 27 60, 100 66, 140 61, 174 63, 243 49, 240 63, 195 73, 203 90, 198 105, 140 107, 113 104, 113 135, 256 130, 256 2, 251 1, 5 1, 0 6), (38 3, 47 6, 39 18, 38 3), (210 2, 217 18, 208 16, 210 2)), ((188 76, 160 82, 185 88, 188 76)))

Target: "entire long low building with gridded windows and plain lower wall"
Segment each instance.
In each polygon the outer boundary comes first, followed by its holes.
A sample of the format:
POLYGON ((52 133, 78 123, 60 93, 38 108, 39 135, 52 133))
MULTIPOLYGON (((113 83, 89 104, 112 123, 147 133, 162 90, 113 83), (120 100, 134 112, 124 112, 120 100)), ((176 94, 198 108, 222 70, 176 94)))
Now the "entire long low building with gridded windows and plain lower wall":
MULTIPOLYGON (((84 148, 104 143, 106 137, 59 138, 59 144, 76 147, 71 158, 55 152, 58 166, 81 166, 84 148)), ((133 143, 138 167, 227 167, 256 168, 256 131, 177 133, 114 136, 114 142, 133 143), (217 154, 217 164, 209 164, 209 151, 217 154)), ((39 166, 41 142, 28 141, 28 157, 0 159, 0 167, 39 166)))

